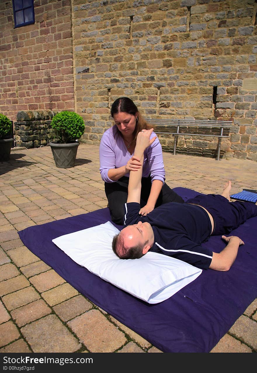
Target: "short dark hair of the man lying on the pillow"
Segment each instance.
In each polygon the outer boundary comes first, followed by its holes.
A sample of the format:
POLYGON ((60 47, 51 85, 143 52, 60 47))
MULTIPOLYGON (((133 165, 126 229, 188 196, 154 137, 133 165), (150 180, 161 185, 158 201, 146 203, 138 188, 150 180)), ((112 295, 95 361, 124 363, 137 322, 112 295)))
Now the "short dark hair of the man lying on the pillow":
POLYGON ((138 244, 133 247, 124 245, 123 236, 118 233, 112 239, 112 250, 120 259, 139 259, 143 254, 143 247, 148 244, 148 240, 144 244, 138 244))

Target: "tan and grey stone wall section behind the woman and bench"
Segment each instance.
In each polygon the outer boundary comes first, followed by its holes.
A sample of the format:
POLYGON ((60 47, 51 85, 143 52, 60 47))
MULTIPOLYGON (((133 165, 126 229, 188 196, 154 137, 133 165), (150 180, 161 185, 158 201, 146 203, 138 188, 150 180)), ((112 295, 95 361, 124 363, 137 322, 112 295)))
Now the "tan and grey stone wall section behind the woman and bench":
POLYGON ((99 143, 111 103, 128 96, 145 117, 233 120, 222 150, 257 160, 256 1, 74 0, 72 12, 84 141, 99 143))

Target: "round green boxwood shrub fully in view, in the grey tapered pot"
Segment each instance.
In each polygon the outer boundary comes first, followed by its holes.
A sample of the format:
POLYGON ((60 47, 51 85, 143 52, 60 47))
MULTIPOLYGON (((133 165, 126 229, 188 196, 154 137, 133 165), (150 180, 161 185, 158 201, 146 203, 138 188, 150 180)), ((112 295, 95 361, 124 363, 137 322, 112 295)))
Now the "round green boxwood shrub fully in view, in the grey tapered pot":
POLYGON ((64 111, 56 114, 51 124, 61 144, 78 140, 85 131, 83 118, 74 112, 64 111))

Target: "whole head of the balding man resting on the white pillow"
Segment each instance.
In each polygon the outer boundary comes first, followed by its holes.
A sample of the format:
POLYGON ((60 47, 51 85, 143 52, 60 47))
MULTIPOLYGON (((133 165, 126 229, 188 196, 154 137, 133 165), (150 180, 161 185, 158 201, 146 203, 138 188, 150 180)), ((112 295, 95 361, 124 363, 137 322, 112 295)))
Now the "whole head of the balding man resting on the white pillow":
POLYGON ((154 244, 154 232, 148 222, 128 225, 114 236, 112 250, 121 259, 138 259, 154 244))

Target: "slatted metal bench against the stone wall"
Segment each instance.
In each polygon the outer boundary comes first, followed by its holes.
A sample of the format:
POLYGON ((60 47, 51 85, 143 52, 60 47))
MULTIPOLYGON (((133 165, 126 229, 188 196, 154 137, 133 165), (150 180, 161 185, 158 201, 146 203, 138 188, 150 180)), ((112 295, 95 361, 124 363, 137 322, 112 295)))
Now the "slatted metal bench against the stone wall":
POLYGON ((154 131, 156 134, 168 134, 168 135, 173 135, 174 136, 174 148, 173 148, 173 155, 176 155, 176 146, 177 146, 177 138, 180 135, 189 135, 189 136, 213 136, 217 137, 218 140, 218 148, 217 148, 217 160, 220 160, 220 145, 221 145, 221 140, 222 138, 228 138, 229 135, 224 135, 224 129, 226 128, 231 128, 233 122, 229 120, 191 120, 191 119, 150 119, 147 118, 145 119, 146 122, 149 123, 149 125, 154 126, 161 126, 163 127, 163 130, 160 132, 154 131), (164 132, 165 129, 169 127, 175 127, 177 128, 176 132, 164 132), (183 127, 205 127, 208 128, 209 130, 212 128, 219 128, 219 134, 201 134, 197 131, 192 131, 192 132, 180 132, 181 128, 183 127))

